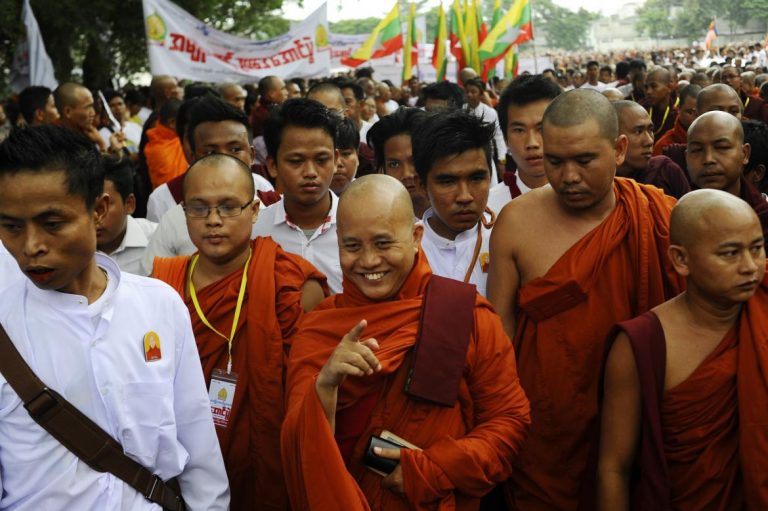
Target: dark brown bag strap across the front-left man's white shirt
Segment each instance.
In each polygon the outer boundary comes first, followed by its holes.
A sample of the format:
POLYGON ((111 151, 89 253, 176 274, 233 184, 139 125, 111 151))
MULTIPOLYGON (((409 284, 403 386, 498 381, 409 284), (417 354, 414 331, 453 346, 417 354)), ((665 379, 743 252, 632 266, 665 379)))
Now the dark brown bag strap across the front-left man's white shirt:
POLYGON ((0 374, 24 402, 30 417, 97 472, 109 472, 163 509, 183 511, 178 482, 163 482, 125 455, 123 447, 56 391, 24 361, 0 325, 0 374), (173 488, 172 488, 173 487, 173 488))

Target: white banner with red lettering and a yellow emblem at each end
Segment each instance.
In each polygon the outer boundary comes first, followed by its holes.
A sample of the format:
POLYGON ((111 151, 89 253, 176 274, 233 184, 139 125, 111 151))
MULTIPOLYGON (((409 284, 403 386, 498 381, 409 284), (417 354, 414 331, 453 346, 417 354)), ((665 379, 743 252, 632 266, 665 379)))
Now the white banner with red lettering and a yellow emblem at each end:
POLYGON ((143 4, 152 74, 213 83, 330 74, 325 3, 288 33, 267 41, 213 29, 168 0, 143 4))

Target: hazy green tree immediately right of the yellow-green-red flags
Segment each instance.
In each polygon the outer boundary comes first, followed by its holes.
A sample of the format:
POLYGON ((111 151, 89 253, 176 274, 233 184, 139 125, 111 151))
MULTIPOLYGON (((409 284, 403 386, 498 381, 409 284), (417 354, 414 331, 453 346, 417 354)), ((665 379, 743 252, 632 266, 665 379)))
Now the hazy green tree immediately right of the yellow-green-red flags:
POLYGON ((587 46, 590 24, 599 17, 583 7, 572 11, 552 0, 537 0, 533 11, 534 31, 536 27, 543 29, 550 47, 580 50, 587 46))

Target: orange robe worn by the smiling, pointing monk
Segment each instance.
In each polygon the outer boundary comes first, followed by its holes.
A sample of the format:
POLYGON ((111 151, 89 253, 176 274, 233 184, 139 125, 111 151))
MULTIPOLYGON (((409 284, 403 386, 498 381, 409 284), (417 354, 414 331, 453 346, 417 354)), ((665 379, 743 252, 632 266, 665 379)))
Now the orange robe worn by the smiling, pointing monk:
MULTIPOLYGON (((305 316, 292 340, 283 463, 293 511, 386 509, 476 510, 480 497, 511 473, 529 424, 509 338, 490 304, 477 296, 464 378, 453 408, 416 401, 403 393, 422 299, 431 271, 423 253, 398 296, 371 302, 349 281, 344 293, 305 316), (341 338, 361 319, 364 337, 378 340, 383 369, 347 377, 339 388, 340 414, 368 401, 373 411, 345 467, 315 392, 315 378, 341 338), (405 496, 381 487, 382 477, 363 464, 371 435, 387 429, 424 449, 401 451, 405 496)), ((353 408, 354 409, 354 408, 353 408)))

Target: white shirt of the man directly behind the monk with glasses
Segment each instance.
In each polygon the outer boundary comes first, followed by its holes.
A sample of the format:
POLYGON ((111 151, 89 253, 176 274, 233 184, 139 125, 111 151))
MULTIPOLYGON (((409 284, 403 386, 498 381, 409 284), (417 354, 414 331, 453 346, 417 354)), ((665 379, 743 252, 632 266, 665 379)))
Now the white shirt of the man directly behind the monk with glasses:
MULTIPOLYGON (((259 191, 272 191, 272 184, 263 177, 253 174, 253 184, 256 187, 255 199, 258 199, 259 191)), ((166 187, 167 188, 167 187, 166 187)), ((168 192, 170 195, 170 191, 168 192)), ((262 204, 259 204, 262 207, 262 204)), ((181 204, 174 202, 171 209, 160 217, 157 229, 149 240, 149 245, 141 259, 140 269, 142 275, 151 275, 155 257, 174 257, 177 255, 191 255, 197 252, 197 247, 192 243, 187 230, 187 217, 181 204)))

